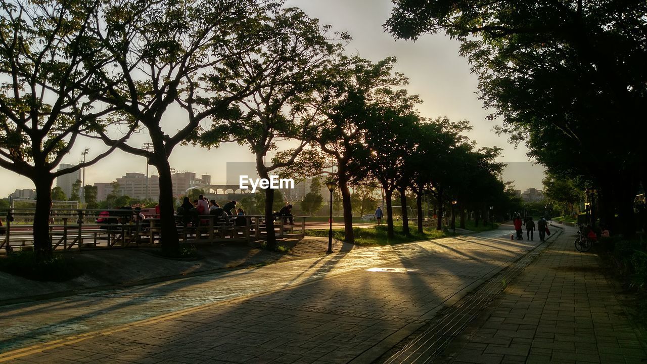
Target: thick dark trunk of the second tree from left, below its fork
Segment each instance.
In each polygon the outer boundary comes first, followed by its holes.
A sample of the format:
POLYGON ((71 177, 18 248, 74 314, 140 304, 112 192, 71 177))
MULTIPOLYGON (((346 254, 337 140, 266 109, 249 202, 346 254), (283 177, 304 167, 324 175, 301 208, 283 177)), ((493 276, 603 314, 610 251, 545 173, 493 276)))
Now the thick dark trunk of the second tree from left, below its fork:
POLYGON ((159 172, 159 205, 160 205, 160 245, 164 255, 177 256, 180 253, 180 240, 177 236, 177 226, 173 208, 173 180, 171 165, 168 159, 156 158, 152 165, 159 172))

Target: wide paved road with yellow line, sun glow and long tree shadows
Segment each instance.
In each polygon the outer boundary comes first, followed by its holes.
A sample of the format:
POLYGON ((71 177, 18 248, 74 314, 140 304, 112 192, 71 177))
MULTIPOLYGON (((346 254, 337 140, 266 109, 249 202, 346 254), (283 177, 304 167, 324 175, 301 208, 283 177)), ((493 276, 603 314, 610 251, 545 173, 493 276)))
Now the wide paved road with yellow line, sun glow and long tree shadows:
POLYGON ((371 362, 540 242, 503 230, 14 304, 0 362, 371 362))

